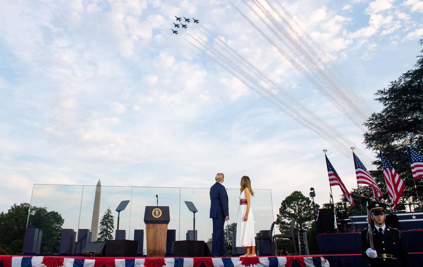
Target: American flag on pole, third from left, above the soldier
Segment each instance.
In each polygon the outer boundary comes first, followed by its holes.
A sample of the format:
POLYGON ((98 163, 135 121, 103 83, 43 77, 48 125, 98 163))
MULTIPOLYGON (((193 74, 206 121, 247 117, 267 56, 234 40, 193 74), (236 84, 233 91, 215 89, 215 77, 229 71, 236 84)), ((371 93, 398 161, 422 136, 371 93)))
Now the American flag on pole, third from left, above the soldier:
POLYGON ((389 198, 395 208, 399 198, 401 197, 402 191, 404 190, 405 184, 382 152, 380 152, 380 159, 382 160, 383 177, 385 177, 386 189, 388 190, 389 198))

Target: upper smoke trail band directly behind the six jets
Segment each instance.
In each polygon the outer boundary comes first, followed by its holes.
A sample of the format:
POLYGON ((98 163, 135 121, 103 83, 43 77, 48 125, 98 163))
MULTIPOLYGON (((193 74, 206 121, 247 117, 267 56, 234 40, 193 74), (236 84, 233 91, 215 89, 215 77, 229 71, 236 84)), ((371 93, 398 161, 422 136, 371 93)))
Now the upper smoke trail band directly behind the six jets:
MULTIPOLYGON (((313 125, 313 127, 315 127, 318 130, 318 131, 314 131, 314 132, 316 132, 316 134, 319 134, 320 136, 322 134, 326 134, 330 138, 340 139, 344 142, 344 144, 343 144, 344 147, 348 147, 349 145, 353 144, 353 142, 351 140, 349 140, 345 136, 343 136, 343 134, 341 134, 335 127, 333 127, 332 125, 330 125, 327 122, 325 122, 324 120, 322 120, 313 111, 311 111, 309 108, 307 108, 302 103, 300 103, 294 96, 292 96, 291 94, 286 92, 286 90, 284 90, 283 88, 278 86, 275 81, 273 81, 268 76, 266 76, 263 72, 258 70, 250 61, 248 61, 246 58, 244 58, 239 53, 237 53, 235 50, 233 50, 230 46, 228 46, 225 42, 223 42, 214 33, 209 31, 207 28, 204 28, 204 29, 206 31, 208 31, 212 36, 214 36, 215 39, 217 39, 225 47, 218 44, 217 42, 214 42, 216 45, 218 45, 221 49, 225 50, 226 53, 228 53, 232 56, 236 55, 236 57, 240 59, 239 61, 241 62, 241 64, 243 64, 247 68, 250 68, 250 70, 252 72, 255 72, 258 75, 259 78, 261 78, 263 81, 266 81, 266 83, 268 83, 273 89, 275 89, 278 92, 281 92, 289 100, 288 103, 283 103, 285 106, 286 105, 291 106, 291 103, 294 103, 294 106, 295 106, 296 109, 294 108, 294 110, 293 110, 292 108, 290 108, 291 112, 293 112, 294 114, 297 114, 299 117, 301 117, 302 120, 305 120, 306 123, 313 125), (304 113, 304 115, 300 116, 299 114, 301 114, 301 113, 304 113)), ((198 30, 201 31, 201 29, 198 29, 198 30)), ((207 36, 206 33, 204 33, 203 31, 201 31, 201 32, 204 35, 207 36)), ((196 36, 198 36, 198 35, 196 35, 196 36)), ((205 42, 204 40, 202 40, 202 41, 205 42)), ((239 69, 241 69, 241 68, 238 65, 236 67, 236 70, 239 70, 239 69)), ((269 94, 269 95, 272 94, 272 92, 270 92, 268 89, 266 89, 266 93, 269 94)), ((349 150, 346 150, 346 152, 349 153, 349 150)), ((364 158, 366 157, 364 155, 364 153, 362 153, 361 151, 358 151, 358 153, 362 154, 364 158)), ((368 160, 368 161, 370 161, 370 160, 368 160)))

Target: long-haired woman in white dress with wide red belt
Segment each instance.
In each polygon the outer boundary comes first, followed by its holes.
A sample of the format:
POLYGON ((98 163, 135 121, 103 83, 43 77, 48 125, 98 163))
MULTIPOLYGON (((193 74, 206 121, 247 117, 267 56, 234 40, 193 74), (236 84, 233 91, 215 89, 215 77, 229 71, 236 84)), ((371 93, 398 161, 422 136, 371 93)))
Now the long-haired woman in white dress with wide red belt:
POLYGON ((253 257, 255 256, 255 231, 251 197, 253 197, 254 192, 251 189, 250 177, 242 176, 240 191, 238 217, 236 219, 236 246, 247 248, 247 253, 242 257, 253 257))

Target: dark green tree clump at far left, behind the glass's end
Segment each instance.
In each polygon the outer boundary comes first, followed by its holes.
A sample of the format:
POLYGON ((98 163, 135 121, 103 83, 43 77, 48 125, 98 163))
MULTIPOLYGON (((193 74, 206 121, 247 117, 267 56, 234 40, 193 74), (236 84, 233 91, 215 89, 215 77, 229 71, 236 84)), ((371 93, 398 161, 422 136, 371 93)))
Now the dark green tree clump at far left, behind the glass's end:
POLYGON ((43 230, 41 251, 43 253, 57 253, 60 245, 60 234, 63 218, 57 211, 47 211, 47 208, 32 206, 30 204, 16 203, 7 213, 0 214, 0 247, 12 255, 22 253, 25 228, 40 228, 43 230), (29 216, 28 216, 29 212, 29 216))

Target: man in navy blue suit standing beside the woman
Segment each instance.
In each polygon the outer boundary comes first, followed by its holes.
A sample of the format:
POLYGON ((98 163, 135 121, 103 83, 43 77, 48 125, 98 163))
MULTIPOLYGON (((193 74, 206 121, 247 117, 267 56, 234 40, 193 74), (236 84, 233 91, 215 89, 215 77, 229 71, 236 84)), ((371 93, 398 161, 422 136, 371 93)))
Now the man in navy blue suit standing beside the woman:
POLYGON ((225 175, 218 173, 216 183, 210 188, 210 218, 213 220, 213 235, 211 236, 211 256, 229 257, 225 253, 225 233, 223 227, 229 220, 228 194, 226 193, 223 180, 225 175))

